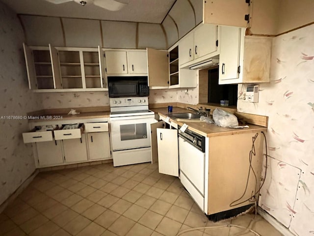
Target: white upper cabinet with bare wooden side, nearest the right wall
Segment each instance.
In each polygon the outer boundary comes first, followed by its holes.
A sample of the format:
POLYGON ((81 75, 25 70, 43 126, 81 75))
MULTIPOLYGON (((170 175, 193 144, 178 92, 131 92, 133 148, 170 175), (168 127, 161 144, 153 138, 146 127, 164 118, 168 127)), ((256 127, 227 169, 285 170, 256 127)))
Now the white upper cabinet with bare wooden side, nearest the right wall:
POLYGON ((221 27, 219 84, 267 83, 271 37, 245 36, 245 28, 221 27))

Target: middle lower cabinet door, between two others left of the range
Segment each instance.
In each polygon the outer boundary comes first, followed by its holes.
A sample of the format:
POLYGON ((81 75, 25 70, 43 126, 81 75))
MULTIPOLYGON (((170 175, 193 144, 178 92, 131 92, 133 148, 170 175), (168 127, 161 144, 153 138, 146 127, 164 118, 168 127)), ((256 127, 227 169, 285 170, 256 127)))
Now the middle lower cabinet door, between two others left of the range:
POLYGON ((87 149, 85 135, 80 139, 62 140, 65 162, 87 161, 87 149))

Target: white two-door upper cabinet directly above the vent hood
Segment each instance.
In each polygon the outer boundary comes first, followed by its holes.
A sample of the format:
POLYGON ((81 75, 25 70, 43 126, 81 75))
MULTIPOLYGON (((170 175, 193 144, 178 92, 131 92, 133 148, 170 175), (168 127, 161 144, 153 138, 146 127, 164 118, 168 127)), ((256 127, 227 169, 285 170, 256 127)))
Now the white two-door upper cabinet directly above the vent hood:
POLYGON ((219 54, 218 27, 201 24, 179 41, 180 67, 201 62, 219 54))

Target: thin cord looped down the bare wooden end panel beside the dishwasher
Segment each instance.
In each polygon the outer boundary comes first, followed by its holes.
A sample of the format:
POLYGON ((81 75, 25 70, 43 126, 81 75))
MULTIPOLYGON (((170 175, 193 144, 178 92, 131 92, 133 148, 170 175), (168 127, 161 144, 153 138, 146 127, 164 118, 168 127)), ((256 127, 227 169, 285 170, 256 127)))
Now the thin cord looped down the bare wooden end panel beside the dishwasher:
POLYGON ((265 175, 264 175, 264 179, 263 179, 263 181, 262 181, 262 184, 261 184, 260 188, 259 188, 254 194, 251 195, 250 198, 245 199, 244 201, 235 204, 237 201, 239 201, 240 199, 242 199, 242 198, 244 197, 244 195, 245 195, 245 193, 246 193, 246 191, 247 191, 247 187, 248 187, 248 183, 249 183, 249 178, 250 178, 251 168, 252 168, 252 172, 253 172, 253 174, 254 174, 254 176, 255 176, 255 184, 256 184, 256 185, 255 185, 255 189, 256 189, 256 187, 257 187, 257 176, 256 176, 256 174, 255 174, 255 171, 254 171, 253 167, 252 167, 252 155, 255 156, 255 146, 254 146, 254 143, 255 143, 255 140, 256 140, 257 137, 258 137, 258 133, 256 133, 255 136, 252 138, 252 149, 251 149, 250 154, 249 154, 250 168, 249 168, 249 173, 248 173, 248 177, 247 177, 247 181, 246 181, 245 190, 244 190, 244 192, 243 192, 243 194, 242 194, 242 196, 241 196, 240 198, 236 199, 235 201, 233 201, 233 202, 229 205, 230 207, 235 207, 235 206, 237 206, 237 205, 240 205, 240 204, 242 204, 242 203, 245 203, 246 201, 257 202, 257 195, 260 193, 260 191, 261 191, 261 189, 262 189, 262 186, 263 186, 263 184, 264 184, 264 182, 265 182, 265 179, 266 179, 266 173, 267 173, 267 157, 268 157, 267 141, 266 141, 265 133, 262 132, 262 134, 263 134, 263 136, 264 136, 264 140, 265 140, 265 149, 266 149, 266 150, 265 150, 266 154, 264 154, 264 155, 265 155, 265 158, 266 158, 266 168, 265 168, 265 175), (252 198, 254 198, 253 201, 251 201, 252 198))

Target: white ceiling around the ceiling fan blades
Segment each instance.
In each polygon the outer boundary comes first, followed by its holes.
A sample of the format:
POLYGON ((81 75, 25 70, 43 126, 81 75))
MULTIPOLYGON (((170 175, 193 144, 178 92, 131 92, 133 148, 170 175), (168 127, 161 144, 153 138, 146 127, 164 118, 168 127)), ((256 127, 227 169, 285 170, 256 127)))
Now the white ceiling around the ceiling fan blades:
POLYGON ((53 4, 45 0, 1 0, 18 14, 129 21, 160 24, 176 0, 118 0, 129 2, 120 11, 108 11, 94 4, 74 1, 53 4))

